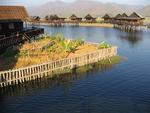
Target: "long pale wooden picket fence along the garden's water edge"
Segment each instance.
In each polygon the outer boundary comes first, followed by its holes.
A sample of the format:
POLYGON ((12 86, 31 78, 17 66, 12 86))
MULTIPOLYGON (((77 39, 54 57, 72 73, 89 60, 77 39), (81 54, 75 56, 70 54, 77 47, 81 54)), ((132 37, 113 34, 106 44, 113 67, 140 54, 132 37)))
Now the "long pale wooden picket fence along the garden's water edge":
POLYGON ((51 61, 40 65, 0 72, 0 87, 15 85, 25 81, 35 80, 44 76, 53 76, 54 71, 73 69, 75 67, 96 63, 117 55, 117 47, 100 49, 82 56, 51 61))

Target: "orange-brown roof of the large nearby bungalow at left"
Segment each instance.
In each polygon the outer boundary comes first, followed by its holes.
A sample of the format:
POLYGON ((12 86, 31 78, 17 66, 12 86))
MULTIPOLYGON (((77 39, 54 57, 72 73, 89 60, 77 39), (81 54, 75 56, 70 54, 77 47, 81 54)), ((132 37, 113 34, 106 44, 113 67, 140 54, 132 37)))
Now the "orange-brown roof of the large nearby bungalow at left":
POLYGON ((0 6, 0 20, 20 19, 25 21, 28 13, 23 6, 0 6))

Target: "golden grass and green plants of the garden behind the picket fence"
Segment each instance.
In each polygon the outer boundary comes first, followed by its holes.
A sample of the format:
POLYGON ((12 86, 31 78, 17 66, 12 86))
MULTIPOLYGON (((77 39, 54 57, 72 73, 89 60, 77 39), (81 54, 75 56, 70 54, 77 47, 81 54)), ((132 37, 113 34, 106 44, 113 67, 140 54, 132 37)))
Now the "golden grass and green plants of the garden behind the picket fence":
POLYGON ((84 55, 98 49, 111 47, 106 42, 88 44, 82 38, 65 39, 61 33, 55 36, 41 35, 36 40, 9 47, 0 55, 0 69, 15 69, 34 64, 84 55))

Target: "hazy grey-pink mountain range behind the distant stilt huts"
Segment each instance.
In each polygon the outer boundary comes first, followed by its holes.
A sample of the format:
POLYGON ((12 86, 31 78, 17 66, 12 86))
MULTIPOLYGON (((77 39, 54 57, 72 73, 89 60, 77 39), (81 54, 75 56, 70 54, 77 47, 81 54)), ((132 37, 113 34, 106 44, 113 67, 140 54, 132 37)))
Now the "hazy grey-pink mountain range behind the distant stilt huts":
POLYGON ((88 13, 95 17, 101 17, 104 14, 115 16, 118 13, 130 14, 133 11, 141 14, 142 16, 150 17, 150 5, 136 6, 136 5, 121 5, 116 3, 101 3, 91 0, 78 0, 71 3, 62 1, 50 1, 46 4, 34 7, 28 7, 31 16, 44 17, 50 14, 57 14, 62 17, 68 17, 75 14, 84 17, 88 13))

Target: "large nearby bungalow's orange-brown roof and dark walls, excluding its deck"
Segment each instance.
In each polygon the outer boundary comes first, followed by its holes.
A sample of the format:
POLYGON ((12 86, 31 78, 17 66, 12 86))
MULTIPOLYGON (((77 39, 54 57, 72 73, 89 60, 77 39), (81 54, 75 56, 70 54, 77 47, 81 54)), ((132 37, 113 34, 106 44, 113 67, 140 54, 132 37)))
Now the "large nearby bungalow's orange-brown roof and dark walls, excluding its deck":
POLYGON ((0 6, 0 35, 23 30, 27 17, 23 6, 0 6))

